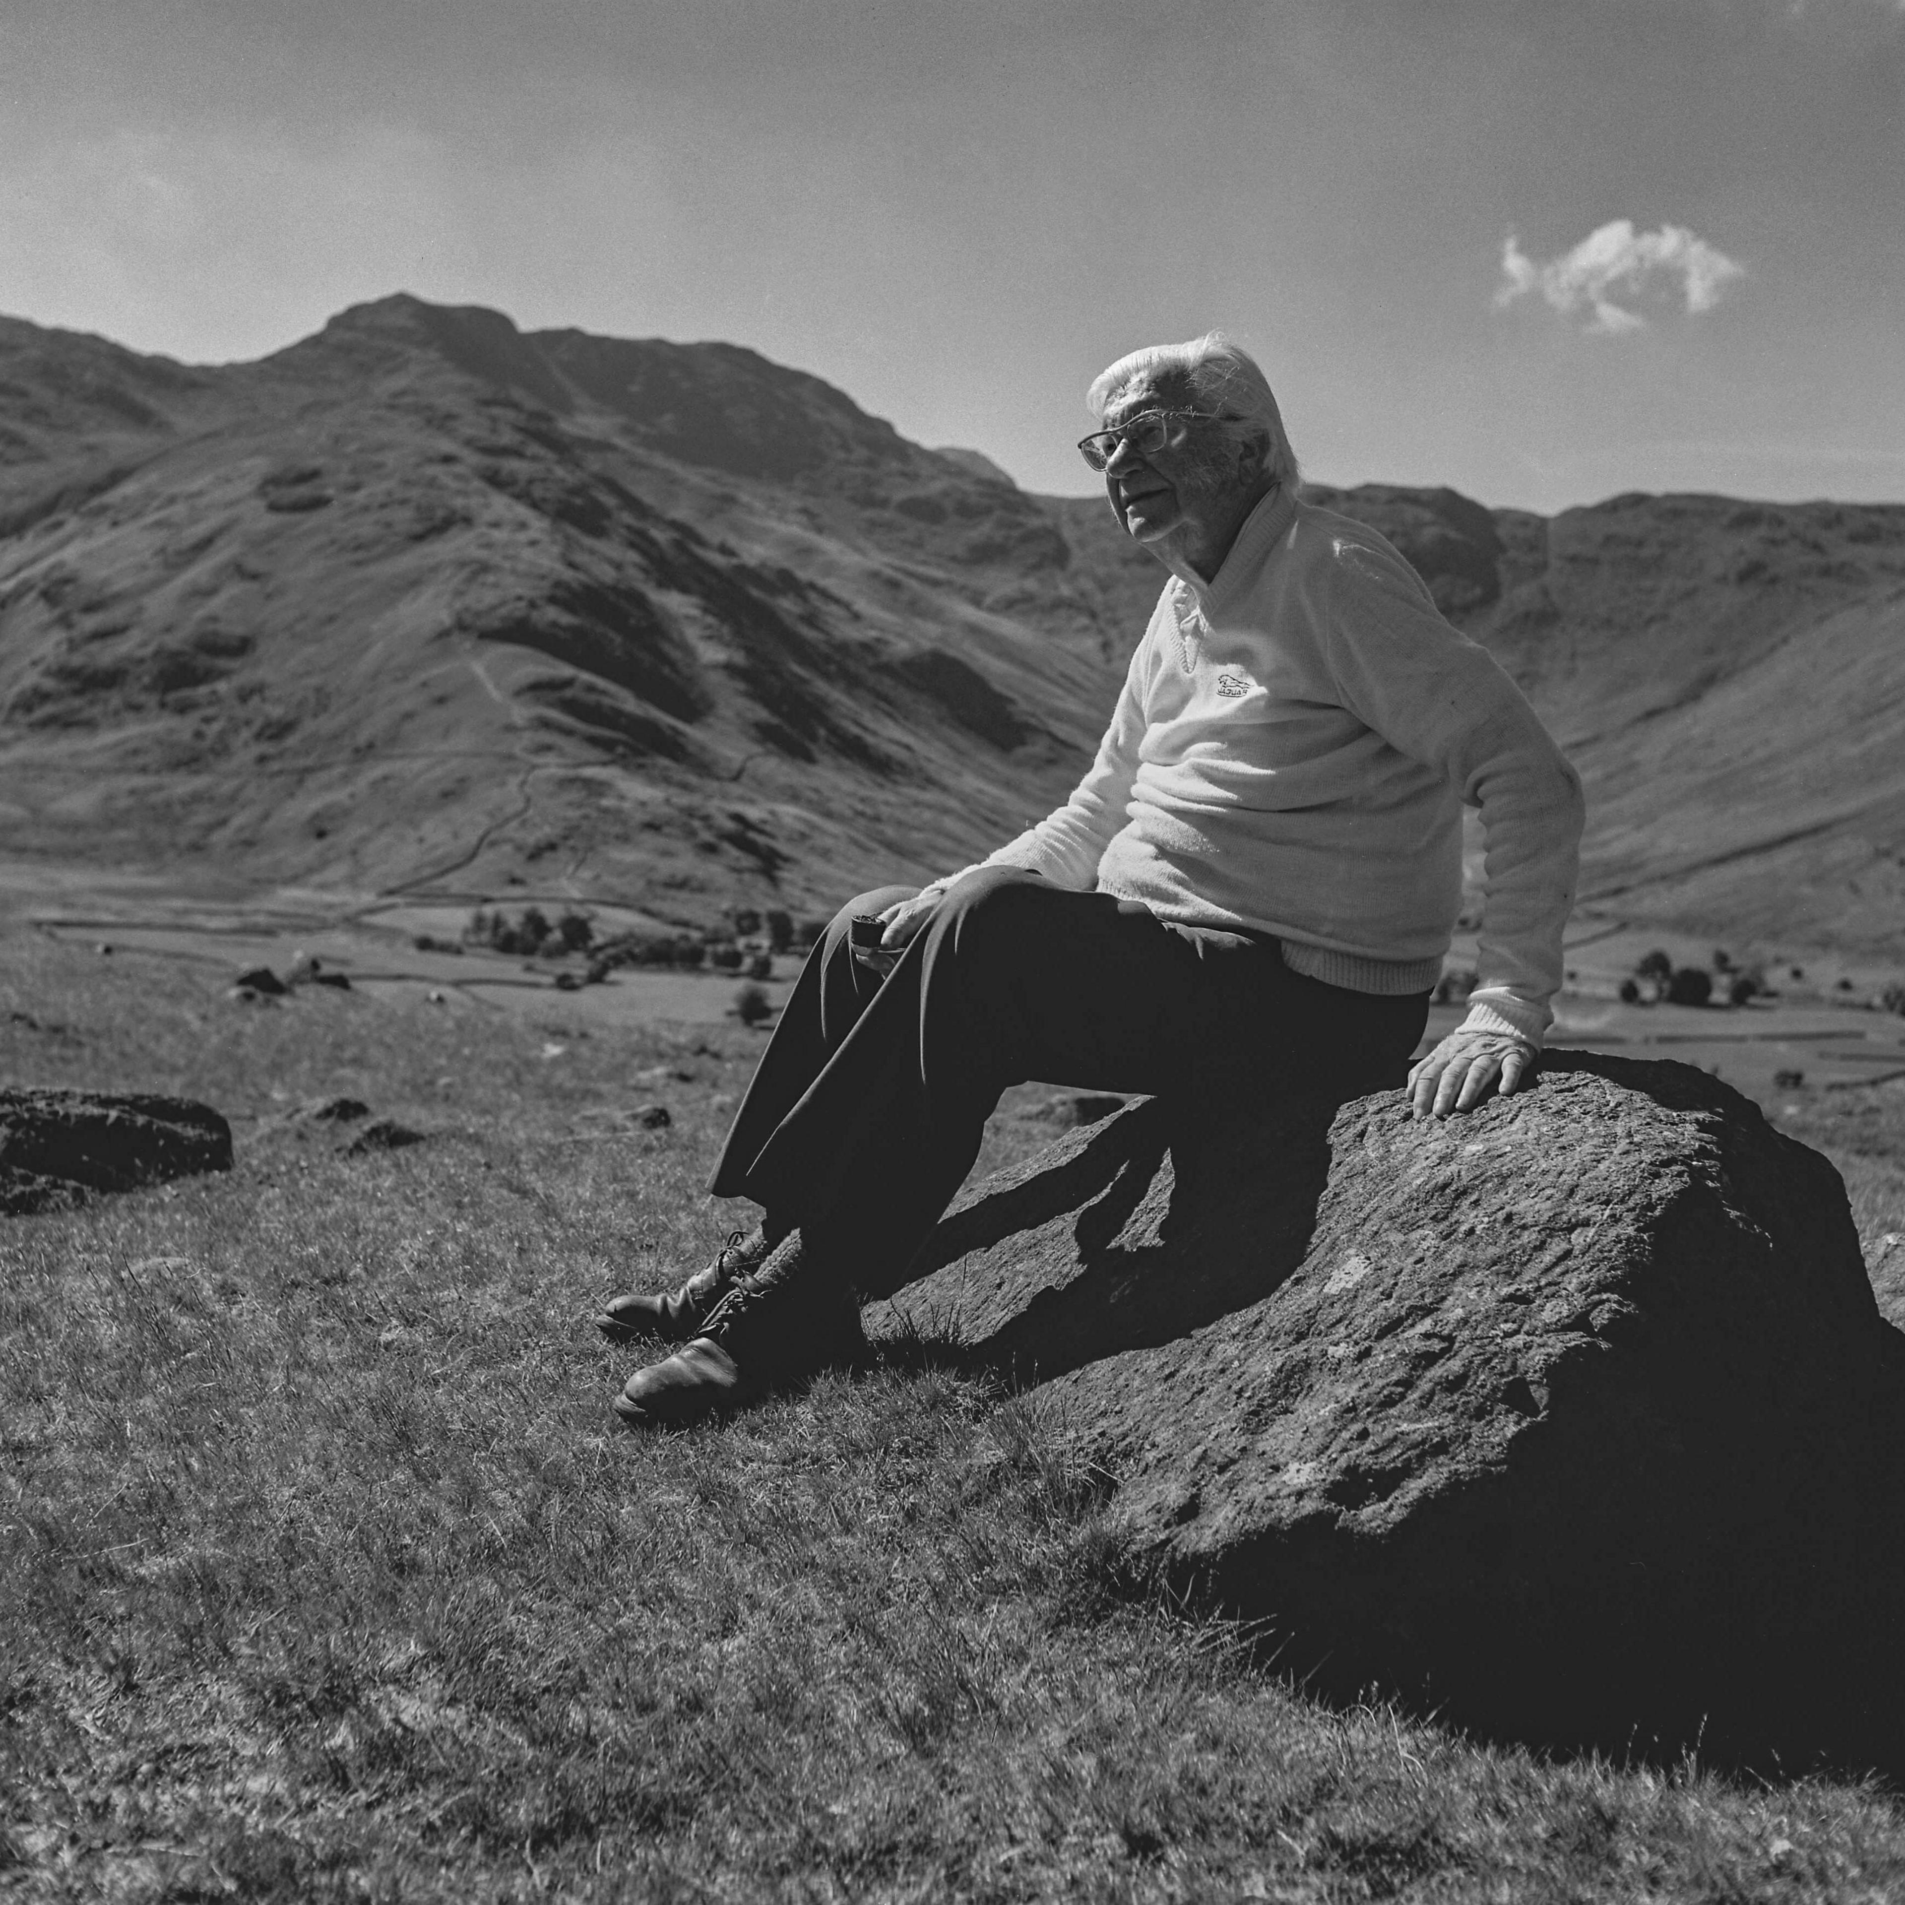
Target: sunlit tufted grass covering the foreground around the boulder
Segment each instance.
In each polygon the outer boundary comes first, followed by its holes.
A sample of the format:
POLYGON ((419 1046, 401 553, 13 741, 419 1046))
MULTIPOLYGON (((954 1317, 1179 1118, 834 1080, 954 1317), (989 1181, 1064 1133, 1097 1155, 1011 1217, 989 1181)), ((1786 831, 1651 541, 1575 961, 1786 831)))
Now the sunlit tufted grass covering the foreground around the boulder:
MULTIPOLYGON (((930 1364, 621 1433, 585 1316, 718 1240, 699 1187, 760 1040, 551 1006, 240 1008, 0 937, 0 1076, 187 1092, 238 1151, 0 1231, 0 1895, 1905 1888, 1871 1779, 1311 1701, 1120 1596, 1038 1410, 930 1364), (282 1116, 333 1092, 431 1137, 347 1160, 282 1116)), ((1876 1234, 1905 1095, 1863 1097, 1802 1135, 1876 1234)), ((1002 1114, 989 1162, 1048 1135, 1002 1114)))

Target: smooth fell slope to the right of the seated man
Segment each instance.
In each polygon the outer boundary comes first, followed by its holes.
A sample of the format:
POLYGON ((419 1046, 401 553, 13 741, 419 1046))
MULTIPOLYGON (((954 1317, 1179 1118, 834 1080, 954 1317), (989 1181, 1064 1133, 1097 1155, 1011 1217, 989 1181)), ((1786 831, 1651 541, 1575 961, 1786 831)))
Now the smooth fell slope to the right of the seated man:
POLYGON ((1410 556, 1579 766, 1583 905, 1895 952, 1905 507, 1617 495, 1545 520, 1313 495, 1410 556))

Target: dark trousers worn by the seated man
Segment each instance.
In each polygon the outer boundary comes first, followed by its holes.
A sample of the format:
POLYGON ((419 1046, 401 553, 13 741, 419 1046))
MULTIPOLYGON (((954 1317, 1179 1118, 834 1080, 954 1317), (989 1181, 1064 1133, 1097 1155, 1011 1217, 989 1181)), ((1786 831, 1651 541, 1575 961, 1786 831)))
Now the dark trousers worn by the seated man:
POLYGON ((1274 939, 1166 926, 1010 867, 954 884, 882 977, 848 922, 912 893, 861 893, 829 926, 709 1185, 798 1225, 815 1269, 867 1299, 905 1280, 1010 1084, 1162 1093, 1204 1116, 1353 1097, 1400 1086, 1427 1021, 1427 993, 1349 993, 1290 972, 1274 939))

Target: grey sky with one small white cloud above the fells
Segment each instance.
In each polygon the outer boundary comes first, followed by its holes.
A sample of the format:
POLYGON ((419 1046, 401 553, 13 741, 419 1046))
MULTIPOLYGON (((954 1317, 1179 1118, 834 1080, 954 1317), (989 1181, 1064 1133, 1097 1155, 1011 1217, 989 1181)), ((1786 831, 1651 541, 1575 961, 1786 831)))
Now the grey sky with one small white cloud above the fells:
POLYGON ((1221 328, 1320 482, 1905 501, 1905 0, 0 0, 0 311, 726 339, 1031 490, 1221 328))

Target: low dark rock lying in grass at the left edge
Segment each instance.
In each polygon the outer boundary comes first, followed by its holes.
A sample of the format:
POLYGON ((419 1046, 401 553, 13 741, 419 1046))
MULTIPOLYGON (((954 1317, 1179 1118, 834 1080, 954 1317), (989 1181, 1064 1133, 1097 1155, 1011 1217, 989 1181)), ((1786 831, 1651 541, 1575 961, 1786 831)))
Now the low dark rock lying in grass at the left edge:
POLYGON ((231 1126, 183 1097, 0 1092, 0 1213, 72 1204, 88 1191, 131 1191, 225 1172, 231 1126))

